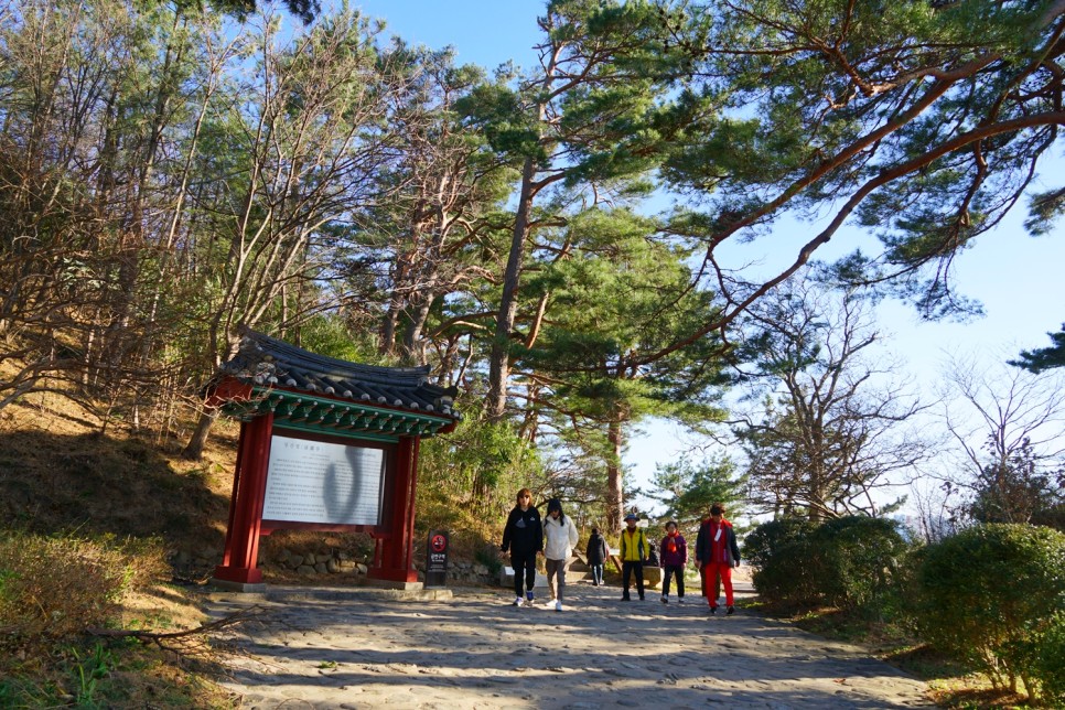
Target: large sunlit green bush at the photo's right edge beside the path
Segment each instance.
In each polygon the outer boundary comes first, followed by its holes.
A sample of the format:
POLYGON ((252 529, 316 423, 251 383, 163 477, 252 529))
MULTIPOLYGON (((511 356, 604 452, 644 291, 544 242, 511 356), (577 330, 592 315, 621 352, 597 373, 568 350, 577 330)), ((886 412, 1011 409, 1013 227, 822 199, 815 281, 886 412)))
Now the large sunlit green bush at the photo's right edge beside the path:
MULTIPOLYGON (((1029 525, 980 525, 928 547, 916 574, 917 623, 932 643, 979 665, 999 688, 1029 695, 1033 649, 1058 638, 1065 609, 1065 535, 1029 525)), ((1055 652, 1048 650, 1053 655, 1055 652)), ((1043 674, 1056 688, 1061 665, 1043 674)))

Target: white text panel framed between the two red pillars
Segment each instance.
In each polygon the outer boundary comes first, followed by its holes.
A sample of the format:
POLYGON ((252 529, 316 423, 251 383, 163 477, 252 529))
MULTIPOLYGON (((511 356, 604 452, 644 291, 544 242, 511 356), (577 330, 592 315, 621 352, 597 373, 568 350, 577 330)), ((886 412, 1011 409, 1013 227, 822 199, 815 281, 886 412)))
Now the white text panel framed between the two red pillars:
POLYGON ((377 525, 385 452, 275 434, 263 520, 377 525))

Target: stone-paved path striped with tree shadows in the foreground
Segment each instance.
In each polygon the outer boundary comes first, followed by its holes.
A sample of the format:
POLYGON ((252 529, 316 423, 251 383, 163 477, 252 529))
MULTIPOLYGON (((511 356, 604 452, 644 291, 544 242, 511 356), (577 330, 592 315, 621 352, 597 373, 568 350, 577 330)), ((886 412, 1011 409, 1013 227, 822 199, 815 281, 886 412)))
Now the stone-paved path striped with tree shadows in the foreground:
POLYGON ((568 591, 561 613, 512 606, 503 590, 441 602, 278 590, 208 606, 268 609, 234 638, 247 655, 227 685, 248 708, 933 707, 923 682, 788 624, 653 592, 623 603, 616 588, 568 591))

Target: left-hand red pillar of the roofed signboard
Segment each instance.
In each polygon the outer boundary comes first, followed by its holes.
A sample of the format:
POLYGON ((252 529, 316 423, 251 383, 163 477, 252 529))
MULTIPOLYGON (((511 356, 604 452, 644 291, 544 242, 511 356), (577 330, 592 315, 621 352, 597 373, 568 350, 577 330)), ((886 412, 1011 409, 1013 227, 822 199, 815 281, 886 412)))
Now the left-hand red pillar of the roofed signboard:
POLYGON ((262 527, 262 499, 266 494, 267 467, 270 463, 270 437, 273 412, 256 417, 240 426, 237 471, 229 501, 229 526, 222 564, 215 579, 243 584, 262 582, 256 569, 259 556, 259 530, 262 527))

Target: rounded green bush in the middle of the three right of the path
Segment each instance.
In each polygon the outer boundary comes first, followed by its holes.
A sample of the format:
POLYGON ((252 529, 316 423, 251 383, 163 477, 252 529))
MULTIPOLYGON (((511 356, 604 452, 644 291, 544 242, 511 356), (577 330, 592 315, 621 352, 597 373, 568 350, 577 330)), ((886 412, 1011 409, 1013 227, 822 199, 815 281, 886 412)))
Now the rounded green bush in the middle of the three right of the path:
POLYGON ((895 595, 911 546, 893 520, 849 516, 814 530, 810 558, 822 601, 882 613, 895 595))

